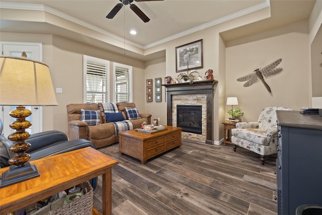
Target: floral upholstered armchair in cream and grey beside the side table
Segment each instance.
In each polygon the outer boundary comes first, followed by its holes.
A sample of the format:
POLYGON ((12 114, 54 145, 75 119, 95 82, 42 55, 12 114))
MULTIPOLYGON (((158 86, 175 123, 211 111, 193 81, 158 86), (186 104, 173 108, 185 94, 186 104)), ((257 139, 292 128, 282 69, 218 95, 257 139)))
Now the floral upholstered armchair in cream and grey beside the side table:
POLYGON ((276 153, 277 117, 276 110, 292 110, 283 107, 267 107, 261 112, 258 122, 238 122, 231 129, 233 150, 243 147, 261 155, 262 165, 265 156, 276 153))

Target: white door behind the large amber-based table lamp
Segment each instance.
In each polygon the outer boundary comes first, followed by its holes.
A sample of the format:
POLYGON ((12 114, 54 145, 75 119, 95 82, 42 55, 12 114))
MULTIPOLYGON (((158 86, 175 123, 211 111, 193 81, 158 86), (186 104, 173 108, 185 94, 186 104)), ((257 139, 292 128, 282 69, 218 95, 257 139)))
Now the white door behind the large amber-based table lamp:
MULTIPOLYGON (((26 52, 27 58, 42 61, 42 43, 25 43, 25 42, 0 42, 1 53, 3 55, 21 57, 22 52, 26 52)), ((23 105, 23 104, 22 104, 23 105)), ((29 133, 38 133, 42 131, 42 107, 26 106, 32 111, 32 115, 27 118, 32 126, 26 131, 29 133)), ((4 123, 4 135, 7 137, 14 132, 9 124, 16 119, 9 115, 10 111, 16 109, 16 106, 0 106, 0 118, 4 123)))

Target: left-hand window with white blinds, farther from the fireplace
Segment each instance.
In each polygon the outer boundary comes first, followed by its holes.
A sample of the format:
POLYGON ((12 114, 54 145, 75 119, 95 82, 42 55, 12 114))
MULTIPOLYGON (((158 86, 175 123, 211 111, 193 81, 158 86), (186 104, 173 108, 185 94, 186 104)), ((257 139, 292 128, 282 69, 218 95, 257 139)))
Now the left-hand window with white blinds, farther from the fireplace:
POLYGON ((109 102, 109 61, 84 55, 86 103, 109 102))

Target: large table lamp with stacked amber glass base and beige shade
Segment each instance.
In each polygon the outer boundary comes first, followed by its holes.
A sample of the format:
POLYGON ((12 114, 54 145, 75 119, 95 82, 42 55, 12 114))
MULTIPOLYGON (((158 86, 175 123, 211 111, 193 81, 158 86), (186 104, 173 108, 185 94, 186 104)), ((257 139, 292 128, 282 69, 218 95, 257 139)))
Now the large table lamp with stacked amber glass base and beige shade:
POLYGON ((31 126, 26 117, 32 112, 24 105, 58 105, 48 65, 22 57, 0 56, 0 105, 18 105, 10 112, 10 116, 17 118, 10 124, 16 132, 8 136, 14 142, 9 151, 15 155, 2 175, 0 187, 5 187, 39 176, 37 167, 28 162, 31 156, 25 153, 31 148, 25 141, 30 136, 25 129, 31 126))

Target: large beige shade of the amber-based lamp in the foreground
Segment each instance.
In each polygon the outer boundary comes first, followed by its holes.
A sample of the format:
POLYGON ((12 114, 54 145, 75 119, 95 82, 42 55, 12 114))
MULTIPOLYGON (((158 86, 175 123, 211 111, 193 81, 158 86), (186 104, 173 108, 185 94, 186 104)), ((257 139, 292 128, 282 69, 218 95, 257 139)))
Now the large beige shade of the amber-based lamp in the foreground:
POLYGON ((45 63, 0 56, 0 105, 58 105, 45 63))

